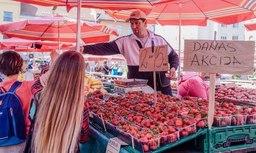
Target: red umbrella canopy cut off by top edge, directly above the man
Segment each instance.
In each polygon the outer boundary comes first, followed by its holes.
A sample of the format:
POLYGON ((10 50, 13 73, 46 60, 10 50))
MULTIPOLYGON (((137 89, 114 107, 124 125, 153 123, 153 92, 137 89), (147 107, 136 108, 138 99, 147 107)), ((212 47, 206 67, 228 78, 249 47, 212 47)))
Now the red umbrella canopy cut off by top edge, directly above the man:
MULTIPOLYGON (((17 2, 35 4, 40 6, 67 6, 67 11, 73 7, 77 7, 76 0, 13 0, 17 2)), ((127 10, 127 9, 140 9, 146 14, 149 14, 154 5, 165 4, 170 1, 177 0, 94 0, 94 1, 81 1, 82 8, 94 8, 103 10, 127 10)))

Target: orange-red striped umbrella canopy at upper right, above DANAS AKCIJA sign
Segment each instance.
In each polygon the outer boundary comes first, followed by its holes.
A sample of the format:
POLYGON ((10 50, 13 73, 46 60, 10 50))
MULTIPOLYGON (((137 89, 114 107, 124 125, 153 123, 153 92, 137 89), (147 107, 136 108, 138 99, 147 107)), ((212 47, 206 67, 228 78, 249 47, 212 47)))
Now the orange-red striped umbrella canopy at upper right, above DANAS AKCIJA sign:
MULTIPOLYGON (((134 10, 106 11, 116 19, 126 20, 134 10)), ((183 0, 157 5, 147 15, 147 23, 161 25, 201 25, 207 19, 232 24, 255 18, 256 2, 251 0, 183 0)))

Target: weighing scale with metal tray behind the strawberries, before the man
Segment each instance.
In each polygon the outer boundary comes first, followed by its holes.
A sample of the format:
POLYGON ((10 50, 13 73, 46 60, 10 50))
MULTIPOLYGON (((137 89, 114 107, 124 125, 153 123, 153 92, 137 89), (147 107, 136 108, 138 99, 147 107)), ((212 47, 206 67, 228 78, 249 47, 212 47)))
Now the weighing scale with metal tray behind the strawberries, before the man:
POLYGON ((154 93, 154 89, 146 85, 147 80, 142 79, 121 79, 115 80, 114 93, 125 94, 128 91, 143 91, 154 93))

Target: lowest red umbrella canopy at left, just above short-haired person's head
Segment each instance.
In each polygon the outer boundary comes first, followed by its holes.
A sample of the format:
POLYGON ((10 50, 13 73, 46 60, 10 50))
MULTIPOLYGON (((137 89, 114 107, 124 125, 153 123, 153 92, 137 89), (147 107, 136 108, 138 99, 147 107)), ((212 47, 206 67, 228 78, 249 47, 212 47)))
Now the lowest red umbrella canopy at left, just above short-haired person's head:
MULTIPOLYGON (((60 49, 66 50, 73 47, 73 43, 61 42, 60 49)), ((58 42, 41 41, 41 40, 26 40, 20 38, 9 38, 0 41, 0 50, 15 50, 16 52, 51 52, 53 49, 58 49, 58 42), (31 48, 35 43, 35 50, 31 48)))

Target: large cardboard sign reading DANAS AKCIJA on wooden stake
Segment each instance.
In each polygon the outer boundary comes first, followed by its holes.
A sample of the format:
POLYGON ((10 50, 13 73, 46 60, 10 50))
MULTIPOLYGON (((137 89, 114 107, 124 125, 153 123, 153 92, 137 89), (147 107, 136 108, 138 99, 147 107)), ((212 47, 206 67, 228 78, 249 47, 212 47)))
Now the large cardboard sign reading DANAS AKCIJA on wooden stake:
POLYGON ((254 41, 185 40, 184 71, 252 74, 254 41))

